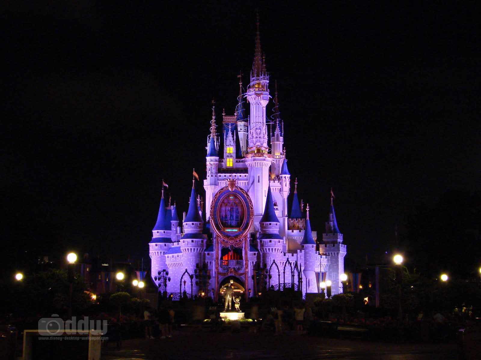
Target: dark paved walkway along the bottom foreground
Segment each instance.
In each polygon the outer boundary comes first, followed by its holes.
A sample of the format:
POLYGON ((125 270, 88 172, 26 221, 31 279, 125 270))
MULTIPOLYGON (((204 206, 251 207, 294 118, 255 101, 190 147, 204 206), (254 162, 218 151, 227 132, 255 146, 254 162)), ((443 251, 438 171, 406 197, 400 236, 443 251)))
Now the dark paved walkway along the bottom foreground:
POLYGON ((171 339, 134 339, 102 351, 102 360, 181 359, 460 359, 456 343, 384 344, 306 335, 178 332, 171 339))

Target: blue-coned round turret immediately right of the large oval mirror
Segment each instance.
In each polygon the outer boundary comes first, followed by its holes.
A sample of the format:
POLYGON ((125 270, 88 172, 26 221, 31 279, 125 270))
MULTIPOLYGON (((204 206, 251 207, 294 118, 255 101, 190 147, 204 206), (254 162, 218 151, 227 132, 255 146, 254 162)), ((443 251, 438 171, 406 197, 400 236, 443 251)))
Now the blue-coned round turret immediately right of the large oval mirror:
MULTIPOLYGON (((267 189, 266 208, 264 210, 264 215, 260 220, 261 235, 259 236, 262 262, 267 265, 267 268, 270 267, 274 260, 280 268, 284 238, 279 235, 279 225, 280 223, 276 216, 276 211, 274 210, 272 192, 269 186, 267 189)), ((274 276, 275 273, 277 273, 277 271, 271 273, 271 285, 278 284, 278 278, 277 276, 274 276)))

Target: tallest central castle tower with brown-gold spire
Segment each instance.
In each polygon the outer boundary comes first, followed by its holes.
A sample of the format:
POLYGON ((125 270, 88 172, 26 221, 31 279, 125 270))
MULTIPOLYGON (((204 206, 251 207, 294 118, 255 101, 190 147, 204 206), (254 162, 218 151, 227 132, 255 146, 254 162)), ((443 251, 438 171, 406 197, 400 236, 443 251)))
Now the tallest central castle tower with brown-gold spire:
MULTIPOLYGON (((254 224, 257 227, 266 204, 269 187, 269 167, 272 155, 268 154, 266 105, 269 102, 269 75, 262 56, 259 35, 259 15, 257 15, 257 33, 255 36, 255 56, 251 71, 251 82, 246 93, 251 106, 248 132, 248 153, 246 165, 249 171, 249 196, 254 205, 254 224)), ((258 229, 258 228, 256 228, 258 229)))

